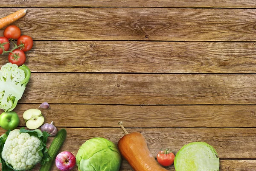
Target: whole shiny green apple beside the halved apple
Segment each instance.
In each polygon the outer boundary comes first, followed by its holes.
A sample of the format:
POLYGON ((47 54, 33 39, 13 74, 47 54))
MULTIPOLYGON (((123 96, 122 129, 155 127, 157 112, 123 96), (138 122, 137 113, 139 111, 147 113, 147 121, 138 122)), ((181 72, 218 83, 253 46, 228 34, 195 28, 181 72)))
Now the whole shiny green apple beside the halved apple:
POLYGON ((13 130, 19 125, 19 123, 20 119, 16 112, 3 112, 0 115, 0 126, 5 130, 13 130))

